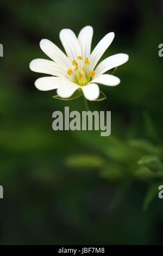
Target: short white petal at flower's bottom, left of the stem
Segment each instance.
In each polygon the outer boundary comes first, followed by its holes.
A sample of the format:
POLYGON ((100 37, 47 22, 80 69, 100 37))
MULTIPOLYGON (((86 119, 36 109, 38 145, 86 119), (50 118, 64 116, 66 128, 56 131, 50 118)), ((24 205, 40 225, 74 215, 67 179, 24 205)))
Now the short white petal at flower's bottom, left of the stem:
POLYGON ((60 84, 59 88, 57 89, 57 94, 62 98, 68 98, 71 97, 72 94, 78 89, 80 86, 78 86, 76 83, 72 82, 64 82, 60 84))

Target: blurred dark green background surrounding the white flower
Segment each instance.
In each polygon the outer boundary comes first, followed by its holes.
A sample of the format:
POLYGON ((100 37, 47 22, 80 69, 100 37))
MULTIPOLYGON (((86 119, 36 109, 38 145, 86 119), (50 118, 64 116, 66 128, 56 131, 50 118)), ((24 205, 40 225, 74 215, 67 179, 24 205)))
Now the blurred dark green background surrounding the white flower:
POLYGON ((1 1, 0 243, 2 245, 154 245, 163 242, 161 0, 1 1), (53 99, 34 86, 39 42, 61 46, 59 32, 108 32, 103 58, 127 53, 117 87, 91 109, 111 111, 111 136, 53 131, 55 110, 84 110, 83 97, 53 99))

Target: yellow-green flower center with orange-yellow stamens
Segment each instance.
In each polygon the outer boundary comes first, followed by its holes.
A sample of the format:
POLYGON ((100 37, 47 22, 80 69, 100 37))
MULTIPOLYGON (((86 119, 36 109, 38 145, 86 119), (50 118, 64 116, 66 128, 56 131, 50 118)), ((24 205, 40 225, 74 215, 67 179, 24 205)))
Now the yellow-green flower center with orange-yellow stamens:
POLYGON ((78 56, 77 60, 72 60, 73 69, 67 70, 67 75, 71 76, 72 82, 77 83, 79 86, 86 86, 91 80, 91 77, 95 76, 95 70, 90 70, 89 58, 83 59, 82 56, 78 56))

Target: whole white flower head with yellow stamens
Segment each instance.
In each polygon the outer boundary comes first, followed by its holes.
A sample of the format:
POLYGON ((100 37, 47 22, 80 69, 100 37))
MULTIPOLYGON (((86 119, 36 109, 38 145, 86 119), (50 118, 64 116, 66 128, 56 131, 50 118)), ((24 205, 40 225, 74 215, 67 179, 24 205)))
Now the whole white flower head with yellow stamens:
POLYGON ((87 100, 96 100, 100 93, 97 83, 105 86, 119 84, 118 77, 104 73, 127 62, 128 55, 115 54, 97 65, 114 39, 114 33, 106 34, 91 53, 92 36, 93 28, 90 26, 84 27, 78 38, 71 29, 62 29, 60 40, 67 55, 53 42, 42 39, 41 50, 52 60, 34 59, 30 69, 52 76, 37 79, 36 88, 43 91, 57 89, 57 94, 62 98, 71 97, 81 88, 87 100))

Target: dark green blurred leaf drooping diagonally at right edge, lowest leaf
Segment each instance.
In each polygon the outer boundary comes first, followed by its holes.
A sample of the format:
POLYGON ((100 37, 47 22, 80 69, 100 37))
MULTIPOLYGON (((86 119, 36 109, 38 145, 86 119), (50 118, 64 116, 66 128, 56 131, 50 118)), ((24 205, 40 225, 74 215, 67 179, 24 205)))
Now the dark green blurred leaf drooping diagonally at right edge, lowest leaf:
POLYGON ((147 210, 149 204, 152 202, 154 197, 158 194, 158 188, 160 183, 155 183, 149 186, 145 199, 143 201, 143 210, 147 210))

